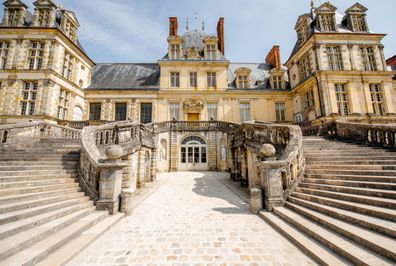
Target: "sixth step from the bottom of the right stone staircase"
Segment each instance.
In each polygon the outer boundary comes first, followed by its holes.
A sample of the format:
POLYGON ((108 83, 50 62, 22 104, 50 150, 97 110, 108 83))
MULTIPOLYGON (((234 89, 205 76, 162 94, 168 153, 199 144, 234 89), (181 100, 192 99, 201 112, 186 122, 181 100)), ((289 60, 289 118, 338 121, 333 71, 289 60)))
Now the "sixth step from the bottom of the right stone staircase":
POLYGON ((340 199, 345 201, 352 201, 367 205, 373 205, 383 208, 389 209, 396 209, 396 200, 393 199, 386 199, 386 198, 379 198, 379 197, 370 197, 364 195, 356 195, 356 194, 349 194, 349 193, 342 193, 342 192, 334 192, 328 190, 320 190, 315 188, 310 188, 309 186, 299 186, 296 188, 297 192, 321 196, 321 197, 328 197, 334 199, 340 199))

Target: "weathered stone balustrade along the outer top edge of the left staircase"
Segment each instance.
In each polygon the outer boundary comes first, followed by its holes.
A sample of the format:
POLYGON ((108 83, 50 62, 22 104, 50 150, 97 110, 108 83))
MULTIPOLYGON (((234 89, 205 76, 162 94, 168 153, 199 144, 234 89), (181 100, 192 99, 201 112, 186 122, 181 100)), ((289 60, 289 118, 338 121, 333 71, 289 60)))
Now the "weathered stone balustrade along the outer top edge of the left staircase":
POLYGON ((18 147, 39 143, 42 139, 80 139, 81 131, 44 121, 0 126, 0 147, 18 147))

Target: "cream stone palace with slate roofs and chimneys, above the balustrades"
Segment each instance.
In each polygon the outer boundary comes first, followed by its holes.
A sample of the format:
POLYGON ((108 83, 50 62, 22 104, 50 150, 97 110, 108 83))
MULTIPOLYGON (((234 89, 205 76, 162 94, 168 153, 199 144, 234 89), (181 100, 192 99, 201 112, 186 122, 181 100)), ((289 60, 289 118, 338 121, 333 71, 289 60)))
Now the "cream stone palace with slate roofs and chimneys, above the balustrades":
POLYGON ((51 0, 34 2, 33 13, 20 0, 4 6, 0 123, 396 118, 385 34, 370 30, 359 3, 341 14, 326 2, 301 15, 284 65, 279 46, 263 62, 230 62, 223 18, 217 34, 209 35, 203 29, 180 32, 175 17, 169 18, 168 51, 157 62, 95 64, 78 41, 72 11, 51 0))

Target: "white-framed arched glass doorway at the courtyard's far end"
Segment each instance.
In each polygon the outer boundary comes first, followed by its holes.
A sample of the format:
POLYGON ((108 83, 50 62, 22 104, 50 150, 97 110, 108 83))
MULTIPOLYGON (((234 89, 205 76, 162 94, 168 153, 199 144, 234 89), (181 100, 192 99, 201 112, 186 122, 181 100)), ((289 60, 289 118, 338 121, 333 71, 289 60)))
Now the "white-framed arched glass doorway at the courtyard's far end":
POLYGON ((207 171, 208 154, 206 142, 198 136, 189 136, 180 145, 181 171, 207 171))

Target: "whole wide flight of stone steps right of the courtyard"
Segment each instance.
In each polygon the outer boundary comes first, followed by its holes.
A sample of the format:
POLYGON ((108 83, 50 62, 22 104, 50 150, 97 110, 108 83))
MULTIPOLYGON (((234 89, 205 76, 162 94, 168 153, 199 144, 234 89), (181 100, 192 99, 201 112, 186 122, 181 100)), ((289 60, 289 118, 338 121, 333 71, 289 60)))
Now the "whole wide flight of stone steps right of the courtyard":
POLYGON ((306 171, 260 216, 323 265, 396 264, 396 152, 304 138, 306 171))

